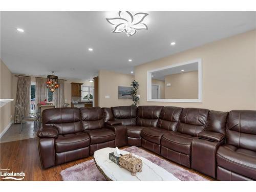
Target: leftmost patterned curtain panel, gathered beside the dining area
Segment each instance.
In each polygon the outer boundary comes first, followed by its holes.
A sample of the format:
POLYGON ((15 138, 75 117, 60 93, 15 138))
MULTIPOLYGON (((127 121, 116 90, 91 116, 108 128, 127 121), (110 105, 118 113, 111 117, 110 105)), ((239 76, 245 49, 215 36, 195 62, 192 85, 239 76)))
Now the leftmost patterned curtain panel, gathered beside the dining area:
MULTIPOLYGON (((28 116, 30 110, 30 84, 30 77, 18 77, 15 105, 22 106, 24 116, 28 116)), ((16 108, 14 115, 14 123, 19 123, 20 119, 16 108)))

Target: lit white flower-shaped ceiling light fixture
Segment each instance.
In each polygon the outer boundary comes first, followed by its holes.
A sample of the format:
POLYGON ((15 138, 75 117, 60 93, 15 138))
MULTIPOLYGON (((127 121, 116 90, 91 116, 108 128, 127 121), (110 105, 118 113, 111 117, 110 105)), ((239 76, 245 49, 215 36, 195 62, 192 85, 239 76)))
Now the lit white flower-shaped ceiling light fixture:
POLYGON ((125 32, 130 37, 136 33, 136 30, 147 29, 146 24, 141 23, 147 13, 140 12, 133 15, 129 11, 119 11, 118 15, 119 17, 106 18, 111 25, 116 26, 113 33, 125 32))

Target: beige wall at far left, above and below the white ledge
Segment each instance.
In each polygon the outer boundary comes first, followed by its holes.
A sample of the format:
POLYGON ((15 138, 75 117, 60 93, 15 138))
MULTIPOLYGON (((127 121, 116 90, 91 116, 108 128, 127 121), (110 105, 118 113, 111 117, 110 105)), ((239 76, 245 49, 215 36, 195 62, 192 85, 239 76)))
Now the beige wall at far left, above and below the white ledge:
MULTIPOLYGON (((0 59, 1 60, 1 59, 0 59)), ((1 99, 12 99, 12 73, 7 68, 5 63, 1 60, 1 99)), ((7 103, 0 108, 1 126, 0 133, 2 133, 12 121, 12 102, 7 103)))

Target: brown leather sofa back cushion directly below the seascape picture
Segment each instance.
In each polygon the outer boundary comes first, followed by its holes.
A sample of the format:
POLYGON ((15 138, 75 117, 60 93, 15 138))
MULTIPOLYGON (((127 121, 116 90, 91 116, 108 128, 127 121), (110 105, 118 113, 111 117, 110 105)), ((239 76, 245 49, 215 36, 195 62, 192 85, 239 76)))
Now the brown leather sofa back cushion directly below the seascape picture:
POLYGON ((136 125, 137 106, 114 106, 111 110, 114 119, 121 121, 123 125, 136 125))

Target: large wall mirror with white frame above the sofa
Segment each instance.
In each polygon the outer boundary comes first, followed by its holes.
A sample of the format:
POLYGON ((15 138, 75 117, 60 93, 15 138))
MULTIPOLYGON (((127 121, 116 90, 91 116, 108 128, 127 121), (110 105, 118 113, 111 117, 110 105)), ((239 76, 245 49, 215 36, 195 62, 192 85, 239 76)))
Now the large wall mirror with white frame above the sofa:
POLYGON ((147 71, 147 101, 202 102, 202 61, 147 71))

